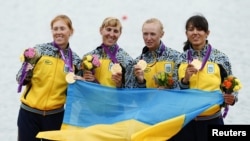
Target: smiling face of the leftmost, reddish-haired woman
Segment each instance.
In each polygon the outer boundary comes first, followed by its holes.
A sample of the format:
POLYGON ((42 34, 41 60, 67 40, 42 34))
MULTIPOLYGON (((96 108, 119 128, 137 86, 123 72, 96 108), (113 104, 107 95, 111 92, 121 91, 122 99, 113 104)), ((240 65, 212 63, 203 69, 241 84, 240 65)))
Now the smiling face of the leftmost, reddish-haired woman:
POLYGON ((53 23, 52 35, 55 43, 61 48, 66 48, 69 43, 69 38, 72 31, 63 20, 58 20, 53 23))

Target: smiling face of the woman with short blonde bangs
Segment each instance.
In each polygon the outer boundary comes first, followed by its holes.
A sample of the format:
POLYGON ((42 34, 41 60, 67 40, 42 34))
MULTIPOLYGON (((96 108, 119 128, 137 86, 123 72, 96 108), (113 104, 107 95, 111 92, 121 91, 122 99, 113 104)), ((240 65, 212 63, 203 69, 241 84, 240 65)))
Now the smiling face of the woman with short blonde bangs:
POLYGON ((101 28, 102 42, 106 46, 114 45, 121 35, 120 27, 107 26, 101 28))

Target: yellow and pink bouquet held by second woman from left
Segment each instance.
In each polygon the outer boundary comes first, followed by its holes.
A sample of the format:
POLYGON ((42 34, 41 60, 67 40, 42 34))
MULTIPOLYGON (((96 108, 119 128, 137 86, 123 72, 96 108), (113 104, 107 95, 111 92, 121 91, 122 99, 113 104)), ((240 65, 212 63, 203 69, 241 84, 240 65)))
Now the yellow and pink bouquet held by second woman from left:
POLYGON ((83 69, 93 70, 101 65, 97 55, 87 55, 83 58, 83 69))

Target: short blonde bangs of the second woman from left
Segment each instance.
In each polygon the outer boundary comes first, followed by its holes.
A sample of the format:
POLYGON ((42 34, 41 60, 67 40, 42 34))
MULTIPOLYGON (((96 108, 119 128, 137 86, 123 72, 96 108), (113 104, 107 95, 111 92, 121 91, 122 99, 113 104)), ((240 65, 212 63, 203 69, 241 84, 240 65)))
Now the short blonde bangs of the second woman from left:
POLYGON ((100 30, 107 27, 107 26, 118 27, 118 28, 120 28, 120 32, 122 32, 122 24, 121 24, 120 20, 115 18, 115 17, 105 18, 102 22, 100 30))

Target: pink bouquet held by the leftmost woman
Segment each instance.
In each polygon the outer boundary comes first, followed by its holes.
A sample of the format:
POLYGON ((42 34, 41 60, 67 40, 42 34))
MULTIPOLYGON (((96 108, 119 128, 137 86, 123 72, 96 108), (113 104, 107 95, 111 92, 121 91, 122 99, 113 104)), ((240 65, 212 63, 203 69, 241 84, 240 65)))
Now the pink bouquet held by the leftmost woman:
POLYGON ((33 65, 37 62, 40 56, 40 53, 35 48, 27 48, 21 55, 20 60, 33 65))

